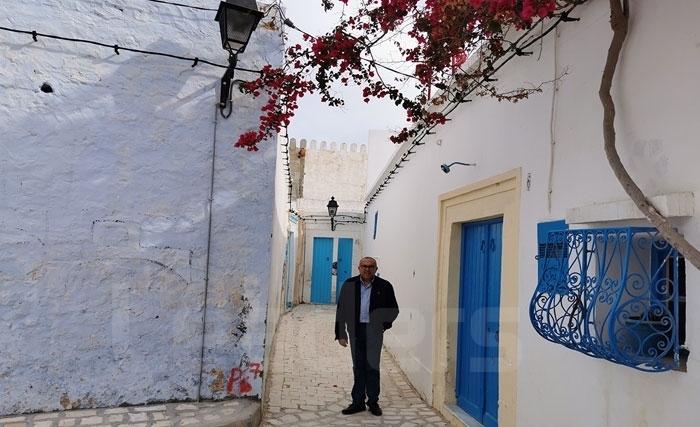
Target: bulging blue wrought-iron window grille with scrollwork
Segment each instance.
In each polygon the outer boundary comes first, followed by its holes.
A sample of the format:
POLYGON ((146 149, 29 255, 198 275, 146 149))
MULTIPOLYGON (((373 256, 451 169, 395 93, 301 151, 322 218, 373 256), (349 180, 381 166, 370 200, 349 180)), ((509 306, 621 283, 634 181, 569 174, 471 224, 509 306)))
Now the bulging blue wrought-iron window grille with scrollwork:
POLYGON ((654 228, 549 233, 530 321, 545 339, 643 371, 679 366, 679 255, 654 228))

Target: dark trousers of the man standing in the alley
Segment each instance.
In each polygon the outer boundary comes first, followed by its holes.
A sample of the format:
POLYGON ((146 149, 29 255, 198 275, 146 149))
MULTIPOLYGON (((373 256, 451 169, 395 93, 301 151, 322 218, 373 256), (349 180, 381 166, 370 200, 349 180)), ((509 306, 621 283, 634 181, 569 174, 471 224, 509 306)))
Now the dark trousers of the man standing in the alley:
POLYGON ((384 332, 374 330, 366 323, 360 323, 355 338, 350 339, 352 372, 355 383, 352 386, 352 402, 373 404, 379 401, 379 360, 382 354, 384 332))

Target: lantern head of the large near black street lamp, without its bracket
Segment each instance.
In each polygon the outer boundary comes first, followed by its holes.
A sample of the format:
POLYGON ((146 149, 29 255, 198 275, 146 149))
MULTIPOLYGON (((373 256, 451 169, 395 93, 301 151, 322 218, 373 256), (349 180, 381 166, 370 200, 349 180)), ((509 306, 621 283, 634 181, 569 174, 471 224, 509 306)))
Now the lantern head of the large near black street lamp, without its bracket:
POLYGON ((255 0, 226 0, 219 3, 216 21, 221 27, 223 48, 232 55, 243 52, 263 16, 255 0))

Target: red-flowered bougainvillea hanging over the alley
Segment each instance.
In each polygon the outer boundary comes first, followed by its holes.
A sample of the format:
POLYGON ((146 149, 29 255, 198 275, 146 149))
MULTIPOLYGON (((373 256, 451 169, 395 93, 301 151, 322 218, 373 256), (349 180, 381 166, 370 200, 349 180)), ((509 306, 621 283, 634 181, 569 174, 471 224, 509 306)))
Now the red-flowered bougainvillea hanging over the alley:
POLYGON ((467 88, 475 85, 477 95, 525 98, 539 89, 504 92, 490 77, 498 58, 519 49, 506 34, 561 17, 567 7, 583 1, 361 0, 348 13, 349 0, 321 0, 325 10, 344 8, 340 22, 325 35, 304 33, 303 45, 287 48, 284 67, 266 66, 259 79, 241 86, 254 97, 267 94, 268 100, 258 129, 243 133, 236 146, 257 150, 257 144, 289 124, 299 98, 307 93, 317 92, 328 105, 342 105, 333 93, 334 84, 353 83, 365 102, 388 98, 404 109, 408 123, 391 138, 396 143, 444 124, 447 113, 438 107, 462 101, 467 88), (400 62, 413 64, 410 71, 392 69, 376 59, 378 46, 387 43, 401 55, 400 62), (467 60, 470 53, 477 55, 475 61, 467 60), (418 95, 402 91, 407 82, 418 95))

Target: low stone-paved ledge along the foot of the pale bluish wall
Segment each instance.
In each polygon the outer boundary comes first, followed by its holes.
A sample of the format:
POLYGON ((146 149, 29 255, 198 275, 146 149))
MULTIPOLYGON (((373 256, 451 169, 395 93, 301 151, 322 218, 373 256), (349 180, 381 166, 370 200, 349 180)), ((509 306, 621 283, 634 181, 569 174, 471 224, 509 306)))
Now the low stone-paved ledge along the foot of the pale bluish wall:
MULTIPOLYGON (((107 409, 81 409, 0 417, 1 427, 176 427, 251 425, 259 403, 249 399, 224 402, 168 403, 107 409)), ((257 413, 257 419, 260 418, 257 413)))

